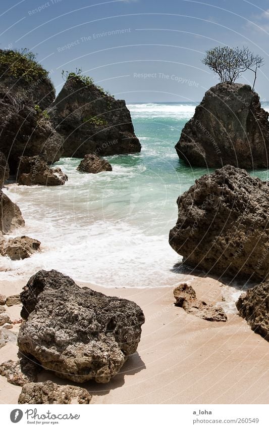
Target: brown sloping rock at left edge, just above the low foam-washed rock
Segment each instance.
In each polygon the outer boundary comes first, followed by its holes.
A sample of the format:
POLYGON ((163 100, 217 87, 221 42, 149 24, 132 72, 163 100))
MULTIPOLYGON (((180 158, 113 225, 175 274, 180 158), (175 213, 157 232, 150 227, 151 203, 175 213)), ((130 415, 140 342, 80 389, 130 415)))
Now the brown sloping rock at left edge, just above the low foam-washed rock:
POLYGON ((0 231, 8 234, 19 226, 24 226, 24 219, 19 207, 0 190, 0 231))

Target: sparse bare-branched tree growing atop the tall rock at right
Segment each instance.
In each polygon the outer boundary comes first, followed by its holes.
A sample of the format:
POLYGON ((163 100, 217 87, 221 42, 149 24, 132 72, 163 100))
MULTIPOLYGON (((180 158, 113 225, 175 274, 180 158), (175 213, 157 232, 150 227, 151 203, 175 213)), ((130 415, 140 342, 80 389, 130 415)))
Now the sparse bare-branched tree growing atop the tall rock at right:
POLYGON ((216 46, 205 54, 202 63, 218 74, 221 82, 235 82, 246 70, 253 71, 254 89, 257 70, 264 64, 262 57, 250 52, 248 47, 240 49, 238 46, 216 46))

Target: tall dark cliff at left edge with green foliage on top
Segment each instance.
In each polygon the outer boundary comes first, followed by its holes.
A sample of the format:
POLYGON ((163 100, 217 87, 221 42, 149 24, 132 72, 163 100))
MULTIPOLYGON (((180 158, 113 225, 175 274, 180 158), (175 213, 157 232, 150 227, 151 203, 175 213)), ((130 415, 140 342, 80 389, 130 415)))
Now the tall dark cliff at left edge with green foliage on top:
POLYGON ((0 151, 12 174, 22 155, 39 155, 48 163, 62 155, 63 137, 44 110, 55 99, 47 76, 31 53, 0 50, 0 151))

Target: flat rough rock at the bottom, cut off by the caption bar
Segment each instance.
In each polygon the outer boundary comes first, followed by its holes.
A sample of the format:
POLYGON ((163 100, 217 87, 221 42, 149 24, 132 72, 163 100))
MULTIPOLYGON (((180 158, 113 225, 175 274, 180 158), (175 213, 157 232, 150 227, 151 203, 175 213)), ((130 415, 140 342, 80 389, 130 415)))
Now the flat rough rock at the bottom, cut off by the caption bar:
POLYGON ((86 389, 47 381, 25 384, 18 404, 89 404, 90 401, 91 395, 86 389))

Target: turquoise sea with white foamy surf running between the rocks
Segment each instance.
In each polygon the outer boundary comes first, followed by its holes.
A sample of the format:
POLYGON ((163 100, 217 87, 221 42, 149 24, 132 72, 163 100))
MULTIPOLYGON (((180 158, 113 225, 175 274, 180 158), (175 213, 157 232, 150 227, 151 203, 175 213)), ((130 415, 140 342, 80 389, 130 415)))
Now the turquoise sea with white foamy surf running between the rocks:
MULTIPOLYGON (((79 159, 62 158, 55 165, 68 175, 64 186, 9 185, 5 192, 26 221, 11 236, 38 239, 42 251, 20 261, 0 257, 0 279, 53 268, 104 287, 165 287, 184 280, 177 270, 181 257, 168 243, 176 200, 212 171, 188 167, 174 149, 196 105, 129 104, 142 151, 107 157, 113 172, 79 173, 79 159)), ((269 111, 269 104, 263 108, 269 111)), ((267 170, 253 174, 268 178, 267 170)))

